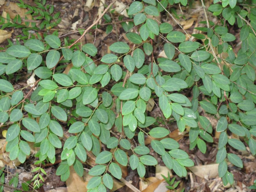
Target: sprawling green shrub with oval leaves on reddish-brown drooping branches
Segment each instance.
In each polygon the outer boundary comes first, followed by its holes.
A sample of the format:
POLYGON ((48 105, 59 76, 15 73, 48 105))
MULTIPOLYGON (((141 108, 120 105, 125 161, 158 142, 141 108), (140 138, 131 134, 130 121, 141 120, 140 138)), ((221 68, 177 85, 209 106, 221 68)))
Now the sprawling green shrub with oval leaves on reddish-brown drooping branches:
MULTIPOLYGON (((112 53, 101 58, 93 44, 79 41, 73 46, 56 32, 17 41, 2 51, 0 122, 8 126, 10 159, 24 163, 30 155, 26 141, 40 147, 35 154, 40 165, 55 163, 55 149, 60 148, 56 175, 66 181, 70 166, 83 175, 82 162, 90 154, 97 165, 89 171, 93 178, 87 189, 106 191, 112 189, 113 177, 122 178, 120 165, 136 169, 140 177, 145 166, 157 165, 145 146, 148 137, 166 167, 185 177, 186 167, 194 162, 177 141, 166 137, 166 126, 157 126, 156 119, 147 116, 147 103, 153 99, 166 121, 173 118, 180 132, 189 131, 190 150, 205 153, 206 143, 213 143, 212 136, 220 132, 219 177, 224 185, 233 184, 227 163, 243 168, 234 149, 256 154, 256 1, 214 0, 209 8, 199 2, 205 14, 198 34, 187 34, 169 12, 173 4, 189 6, 187 0, 143 0, 126 10, 135 26, 125 33, 129 41, 113 43, 112 53), (160 14, 168 22, 155 18, 160 14), (164 42, 167 58, 154 56, 156 40, 164 42), (232 42, 240 49, 234 52, 232 42), (69 73, 62 73, 70 62, 69 73), (35 90, 26 94, 26 87, 14 89, 21 70, 35 74, 35 90), (205 114, 218 121, 216 129, 205 114)), ((44 172, 40 167, 34 171, 44 172)), ((40 179, 33 179, 34 186, 40 186, 40 179)))

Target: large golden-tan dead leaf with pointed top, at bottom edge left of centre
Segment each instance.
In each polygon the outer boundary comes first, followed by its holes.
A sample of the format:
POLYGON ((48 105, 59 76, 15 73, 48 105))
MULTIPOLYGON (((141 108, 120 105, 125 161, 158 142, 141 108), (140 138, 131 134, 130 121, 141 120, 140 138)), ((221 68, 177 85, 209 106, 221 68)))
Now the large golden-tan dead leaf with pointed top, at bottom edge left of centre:
POLYGON ((68 192, 87 191, 86 182, 83 178, 77 175, 73 166, 69 167, 70 176, 66 181, 68 192))

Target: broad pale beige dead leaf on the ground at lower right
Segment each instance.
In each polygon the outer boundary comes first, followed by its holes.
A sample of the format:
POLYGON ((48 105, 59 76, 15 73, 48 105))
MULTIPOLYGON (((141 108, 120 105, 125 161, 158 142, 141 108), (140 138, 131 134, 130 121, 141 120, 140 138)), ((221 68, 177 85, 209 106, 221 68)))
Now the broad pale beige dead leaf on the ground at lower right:
POLYGON ((198 165, 193 167, 188 167, 195 175, 205 178, 213 179, 218 177, 218 163, 209 165, 198 165))

